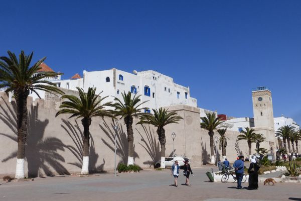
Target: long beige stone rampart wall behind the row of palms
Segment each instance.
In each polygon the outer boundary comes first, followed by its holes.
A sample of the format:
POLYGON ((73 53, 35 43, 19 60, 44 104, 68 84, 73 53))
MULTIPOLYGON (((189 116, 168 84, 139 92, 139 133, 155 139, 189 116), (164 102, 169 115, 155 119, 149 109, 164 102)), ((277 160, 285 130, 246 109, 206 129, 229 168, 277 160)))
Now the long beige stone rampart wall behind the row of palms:
MULTIPOLYGON (((82 125, 80 119, 67 115, 55 118, 60 102, 39 99, 34 105, 28 99, 28 140, 26 146, 26 173, 30 176, 80 172, 82 160, 82 125)), ((16 168, 17 135, 15 103, 8 102, 6 93, 0 92, 0 174, 14 174, 16 168)), ((189 106, 173 106, 170 111, 184 118, 179 124, 166 126, 166 156, 172 156, 171 133, 176 133, 175 153, 186 155, 193 167, 207 163, 210 157, 209 136, 200 128, 200 111, 189 106)), ((133 124, 134 160, 142 168, 153 168, 160 160, 160 143, 156 128, 133 124)), ((117 124, 117 163, 127 160, 126 127, 123 120, 93 118, 90 126, 90 170, 112 170, 114 167, 114 133, 117 124)), ((238 132, 229 131, 227 157, 234 161, 237 155, 247 156, 247 143, 236 142, 238 132)), ((215 132, 218 136, 218 133, 215 132)), ((255 144, 252 145, 255 149, 255 144)), ((218 155, 222 159, 221 150, 218 155)))

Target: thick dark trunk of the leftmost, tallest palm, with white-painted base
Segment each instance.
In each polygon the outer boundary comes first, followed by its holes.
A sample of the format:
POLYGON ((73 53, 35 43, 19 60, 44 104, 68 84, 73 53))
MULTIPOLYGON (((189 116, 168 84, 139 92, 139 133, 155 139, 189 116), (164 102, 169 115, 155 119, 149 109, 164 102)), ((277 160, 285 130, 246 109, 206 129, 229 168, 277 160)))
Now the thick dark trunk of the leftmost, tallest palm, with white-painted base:
POLYGON ((18 153, 16 179, 24 179, 25 144, 27 136, 27 96, 29 91, 16 91, 18 153))

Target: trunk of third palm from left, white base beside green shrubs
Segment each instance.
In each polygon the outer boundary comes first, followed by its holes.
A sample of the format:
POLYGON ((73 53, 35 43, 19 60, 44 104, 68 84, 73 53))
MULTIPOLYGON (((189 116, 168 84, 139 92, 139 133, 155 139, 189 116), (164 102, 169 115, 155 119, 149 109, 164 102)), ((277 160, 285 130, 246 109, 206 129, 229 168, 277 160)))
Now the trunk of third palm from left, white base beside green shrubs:
POLYGON ((127 165, 133 165, 134 164, 134 132, 132 128, 133 118, 125 117, 124 123, 126 125, 127 142, 128 142, 127 165))

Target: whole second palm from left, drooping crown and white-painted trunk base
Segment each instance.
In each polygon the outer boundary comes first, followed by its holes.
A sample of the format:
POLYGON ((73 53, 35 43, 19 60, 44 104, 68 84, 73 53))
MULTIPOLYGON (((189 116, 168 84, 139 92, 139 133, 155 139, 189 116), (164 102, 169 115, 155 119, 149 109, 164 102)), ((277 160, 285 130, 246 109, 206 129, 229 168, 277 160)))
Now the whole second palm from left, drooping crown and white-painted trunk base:
POLYGON ((95 95, 96 88, 89 87, 88 92, 85 93, 84 89, 76 87, 79 92, 79 98, 75 95, 63 95, 63 98, 68 101, 63 101, 60 106, 60 111, 57 112, 55 117, 60 114, 72 114, 69 118, 76 117, 82 118, 81 123, 84 127, 83 131, 83 163, 81 174, 89 174, 89 143, 90 132, 89 127, 93 117, 111 117, 114 118, 110 111, 104 110, 104 107, 111 106, 111 102, 101 104, 101 102, 108 96, 99 97, 99 94, 95 95))

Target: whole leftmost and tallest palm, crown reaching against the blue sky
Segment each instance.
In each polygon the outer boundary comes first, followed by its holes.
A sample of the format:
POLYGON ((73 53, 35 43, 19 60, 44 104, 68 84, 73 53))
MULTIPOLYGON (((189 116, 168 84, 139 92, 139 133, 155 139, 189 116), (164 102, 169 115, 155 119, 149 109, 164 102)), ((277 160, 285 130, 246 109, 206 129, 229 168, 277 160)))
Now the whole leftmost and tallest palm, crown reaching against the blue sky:
MULTIPOLYGON (((14 94, 17 105, 17 135, 18 135, 18 153, 16 178, 24 178, 24 158, 25 144, 27 138, 27 97, 30 92, 36 93, 37 90, 43 90, 50 93, 63 93, 56 85, 45 80, 47 77, 56 77, 59 74, 56 72, 39 72, 42 68, 41 63, 46 57, 40 59, 33 66, 30 66, 33 52, 30 55, 25 55, 21 51, 19 60, 16 55, 8 51, 9 57, 0 57, 0 88, 5 87, 6 92, 14 94)), ((40 97, 41 98, 41 97, 40 97)))

